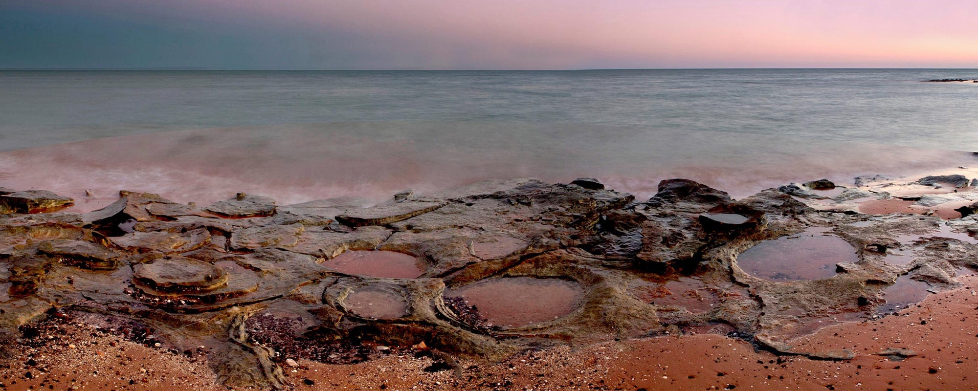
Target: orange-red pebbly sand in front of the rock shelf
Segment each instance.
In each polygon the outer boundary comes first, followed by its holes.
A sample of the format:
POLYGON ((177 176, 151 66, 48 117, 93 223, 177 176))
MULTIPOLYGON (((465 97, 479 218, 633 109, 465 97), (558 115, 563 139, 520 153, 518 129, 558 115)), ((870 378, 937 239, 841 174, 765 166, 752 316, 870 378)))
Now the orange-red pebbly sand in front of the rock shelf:
MULTIPOLYGON (((978 277, 959 281, 963 287, 931 294, 894 315, 790 341, 796 349, 855 352, 853 360, 840 362, 776 356, 726 335, 688 333, 526 352, 502 363, 463 360, 461 372, 408 346, 355 365, 298 361, 283 367, 296 390, 974 389, 978 277), (878 355, 888 348, 913 355, 902 361, 878 355)), ((205 352, 147 347, 70 321, 53 326, 61 335, 0 368, 0 388, 224 389, 206 368, 205 352)))

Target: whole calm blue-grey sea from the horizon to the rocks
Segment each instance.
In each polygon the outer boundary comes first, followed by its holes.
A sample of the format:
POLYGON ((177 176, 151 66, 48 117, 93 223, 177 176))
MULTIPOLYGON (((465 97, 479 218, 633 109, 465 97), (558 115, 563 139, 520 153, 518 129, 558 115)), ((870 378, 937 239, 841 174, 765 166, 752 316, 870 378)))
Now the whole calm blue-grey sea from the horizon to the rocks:
MULTIPOLYGON (((491 178, 786 181, 968 164, 978 69, 0 71, 0 186, 377 201, 491 178)), ((79 202, 84 208, 85 202, 79 202)))

